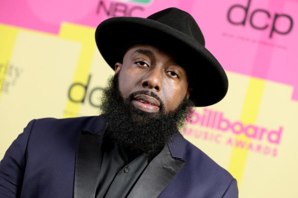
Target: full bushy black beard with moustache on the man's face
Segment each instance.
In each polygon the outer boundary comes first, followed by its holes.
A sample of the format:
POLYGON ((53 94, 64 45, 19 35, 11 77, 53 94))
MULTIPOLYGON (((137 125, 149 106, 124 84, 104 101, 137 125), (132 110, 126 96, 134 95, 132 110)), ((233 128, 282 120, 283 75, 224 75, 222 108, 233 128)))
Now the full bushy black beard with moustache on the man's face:
POLYGON ((185 96, 178 108, 165 113, 160 98, 149 91, 132 93, 122 98, 118 87, 118 75, 108 80, 102 94, 100 110, 106 121, 104 137, 118 143, 134 153, 147 153, 153 159, 169 141, 173 141, 186 120, 191 118, 194 103, 185 96), (133 97, 146 94, 160 102, 158 113, 148 113, 132 105, 133 97))

